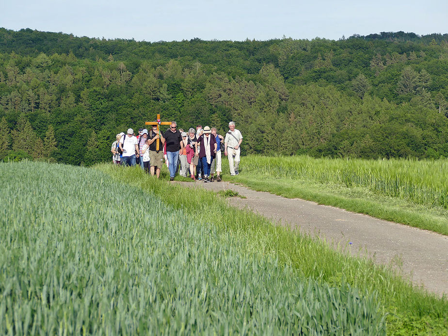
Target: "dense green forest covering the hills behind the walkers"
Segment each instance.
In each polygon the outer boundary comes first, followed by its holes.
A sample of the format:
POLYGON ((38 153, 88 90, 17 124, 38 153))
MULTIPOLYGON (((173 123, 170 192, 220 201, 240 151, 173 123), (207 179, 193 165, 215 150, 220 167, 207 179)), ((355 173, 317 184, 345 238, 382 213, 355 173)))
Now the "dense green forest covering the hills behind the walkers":
POLYGON ((243 153, 448 156, 448 34, 137 42, 0 29, 0 159, 90 165, 153 121, 243 153))

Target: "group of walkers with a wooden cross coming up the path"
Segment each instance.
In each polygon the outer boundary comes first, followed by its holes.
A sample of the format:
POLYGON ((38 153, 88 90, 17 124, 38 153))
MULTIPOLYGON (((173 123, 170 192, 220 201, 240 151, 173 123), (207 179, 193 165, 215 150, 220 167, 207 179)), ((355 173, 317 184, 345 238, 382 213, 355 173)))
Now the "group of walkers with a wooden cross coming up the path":
POLYGON ((127 133, 119 133, 112 144, 112 161, 114 164, 135 166, 139 164, 145 172, 160 176, 160 169, 165 163, 170 172, 170 180, 174 180, 179 169, 179 175, 193 180, 213 182, 221 181, 221 154, 228 157, 230 175, 238 175, 240 165, 241 132, 235 128, 235 123, 229 123, 229 130, 223 137, 217 134, 216 128, 201 125, 190 128, 188 132, 177 129, 175 121, 165 132, 158 130, 158 125, 152 129, 140 128, 135 136, 132 128, 127 133))

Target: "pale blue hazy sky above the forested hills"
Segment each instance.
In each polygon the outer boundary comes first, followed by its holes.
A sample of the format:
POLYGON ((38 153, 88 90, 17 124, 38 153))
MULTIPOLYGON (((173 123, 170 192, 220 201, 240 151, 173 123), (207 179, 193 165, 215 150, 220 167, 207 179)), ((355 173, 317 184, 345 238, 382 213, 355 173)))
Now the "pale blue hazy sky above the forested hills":
POLYGON ((137 41, 448 33, 448 1, 2 0, 0 27, 137 41))

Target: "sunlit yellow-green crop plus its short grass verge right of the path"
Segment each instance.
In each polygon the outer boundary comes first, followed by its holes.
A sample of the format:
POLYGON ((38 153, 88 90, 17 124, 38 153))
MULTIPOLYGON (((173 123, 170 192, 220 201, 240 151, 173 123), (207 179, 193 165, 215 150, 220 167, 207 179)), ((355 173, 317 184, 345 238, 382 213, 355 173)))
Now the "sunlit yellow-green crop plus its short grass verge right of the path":
POLYGON ((225 178, 448 235, 448 159, 249 155, 240 166, 240 175, 225 178))

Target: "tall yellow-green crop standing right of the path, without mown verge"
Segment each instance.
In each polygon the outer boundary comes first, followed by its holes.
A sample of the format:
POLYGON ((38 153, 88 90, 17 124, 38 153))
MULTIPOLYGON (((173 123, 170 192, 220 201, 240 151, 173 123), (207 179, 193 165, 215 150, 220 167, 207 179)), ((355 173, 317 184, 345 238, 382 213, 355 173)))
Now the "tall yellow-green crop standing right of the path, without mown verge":
POLYGON ((245 171, 260 176, 367 187, 385 196, 448 208, 448 159, 362 160, 249 155, 244 157, 242 164, 245 171))

